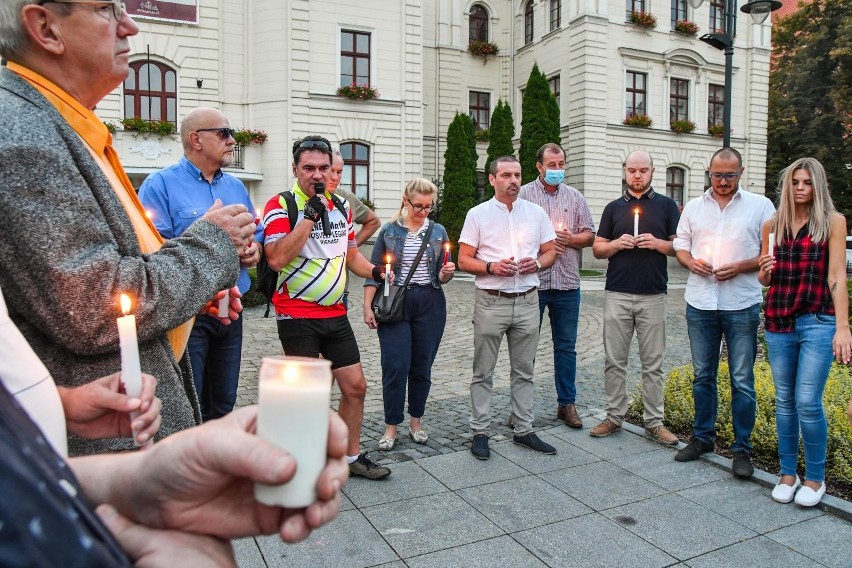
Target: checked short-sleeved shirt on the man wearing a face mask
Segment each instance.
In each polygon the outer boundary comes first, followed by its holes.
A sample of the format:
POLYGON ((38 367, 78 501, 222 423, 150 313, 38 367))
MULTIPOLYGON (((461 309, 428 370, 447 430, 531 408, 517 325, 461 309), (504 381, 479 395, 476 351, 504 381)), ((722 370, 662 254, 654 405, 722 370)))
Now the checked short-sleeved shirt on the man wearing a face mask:
MULTIPOLYGON (((524 185, 519 194, 521 199, 540 205, 550 217, 553 228, 563 228, 573 234, 583 231, 595 232, 592 213, 583 194, 569 185, 560 183, 553 193, 548 193, 541 177, 524 185)), ((539 272, 541 290, 576 290, 580 287, 580 251, 566 248, 556 256, 552 267, 539 272)))

